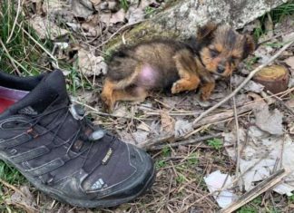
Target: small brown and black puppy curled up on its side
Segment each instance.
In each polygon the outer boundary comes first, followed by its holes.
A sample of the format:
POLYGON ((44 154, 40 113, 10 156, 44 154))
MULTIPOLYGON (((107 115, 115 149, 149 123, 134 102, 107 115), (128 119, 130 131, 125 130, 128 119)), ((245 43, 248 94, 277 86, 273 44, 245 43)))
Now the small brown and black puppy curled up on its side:
POLYGON ((255 49, 250 35, 230 26, 206 24, 196 40, 154 40, 113 54, 103 85, 105 110, 117 101, 143 102, 151 91, 171 93, 201 88, 202 100, 214 89, 214 75, 230 76, 255 49))

